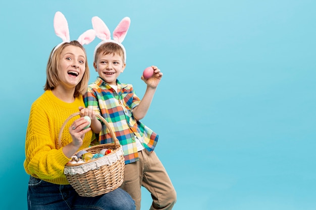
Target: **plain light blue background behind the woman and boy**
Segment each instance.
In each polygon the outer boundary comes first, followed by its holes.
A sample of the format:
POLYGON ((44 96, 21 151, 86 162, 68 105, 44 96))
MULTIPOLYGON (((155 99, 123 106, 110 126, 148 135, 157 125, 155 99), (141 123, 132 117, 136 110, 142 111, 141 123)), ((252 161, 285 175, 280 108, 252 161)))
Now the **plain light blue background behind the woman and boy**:
MULTIPOLYGON (((3 1, 0 208, 27 209, 25 131, 61 11, 71 39, 93 16, 111 31, 131 18, 120 81, 140 97, 143 69, 164 73, 143 122, 160 134, 175 210, 316 209, 315 10, 312 0, 3 1)), ((90 82, 97 43, 86 46, 90 82)))

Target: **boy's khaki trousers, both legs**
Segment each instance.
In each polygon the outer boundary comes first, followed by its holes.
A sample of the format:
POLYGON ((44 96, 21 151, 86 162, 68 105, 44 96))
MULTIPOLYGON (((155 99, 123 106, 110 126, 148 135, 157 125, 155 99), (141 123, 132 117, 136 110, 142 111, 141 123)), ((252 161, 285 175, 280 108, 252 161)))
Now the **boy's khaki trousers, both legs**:
POLYGON ((150 209, 172 209, 177 194, 165 167, 155 152, 147 150, 138 152, 139 161, 125 165, 122 189, 127 191, 135 201, 136 210, 140 210, 141 189, 145 187, 152 197, 150 209))

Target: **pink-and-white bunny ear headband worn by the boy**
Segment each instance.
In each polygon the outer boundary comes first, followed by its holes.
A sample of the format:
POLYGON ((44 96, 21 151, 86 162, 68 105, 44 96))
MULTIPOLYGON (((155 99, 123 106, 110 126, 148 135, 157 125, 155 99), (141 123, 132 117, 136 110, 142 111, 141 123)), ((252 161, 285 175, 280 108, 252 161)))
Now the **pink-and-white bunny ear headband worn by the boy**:
POLYGON ((95 31, 96 36, 102 41, 96 45, 93 53, 93 59, 95 59, 95 53, 97 48, 106 42, 114 42, 120 45, 124 51, 124 62, 126 62, 126 50, 122 42, 125 39, 128 28, 131 24, 129 17, 125 17, 121 20, 118 26, 113 31, 113 39, 111 39, 111 33, 107 25, 97 16, 92 18, 92 27, 95 31))

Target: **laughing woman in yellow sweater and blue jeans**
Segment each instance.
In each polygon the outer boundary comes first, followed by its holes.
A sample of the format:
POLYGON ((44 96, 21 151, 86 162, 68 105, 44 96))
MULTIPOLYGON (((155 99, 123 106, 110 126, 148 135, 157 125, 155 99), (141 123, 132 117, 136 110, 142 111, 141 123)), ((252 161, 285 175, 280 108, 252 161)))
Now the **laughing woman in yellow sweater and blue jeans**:
POLYGON ((50 53, 46 68, 45 92, 32 104, 26 132, 24 162, 30 175, 27 192, 28 209, 135 209, 130 195, 118 188, 96 196, 82 197, 69 184, 64 167, 77 151, 90 145, 91 128, 83 116, 95 113, 83 108, 89 68, 85 49, 78 41, 63 42, 50 53), (80 110, 80 117, 70 120, 64 129, 59 147, 62 124, 80 110))

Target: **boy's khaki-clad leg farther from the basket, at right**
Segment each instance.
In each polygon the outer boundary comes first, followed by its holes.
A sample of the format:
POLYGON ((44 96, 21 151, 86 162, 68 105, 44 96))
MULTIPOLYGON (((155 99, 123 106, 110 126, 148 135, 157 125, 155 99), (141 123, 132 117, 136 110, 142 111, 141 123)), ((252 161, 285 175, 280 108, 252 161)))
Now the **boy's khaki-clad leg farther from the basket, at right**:
POLYGON ((150 209, 172 209, 177 194, 165 167, 155 152, 143 150, 141 153, 144 161, 142 186, 151 193, 153 200, 150 209))

